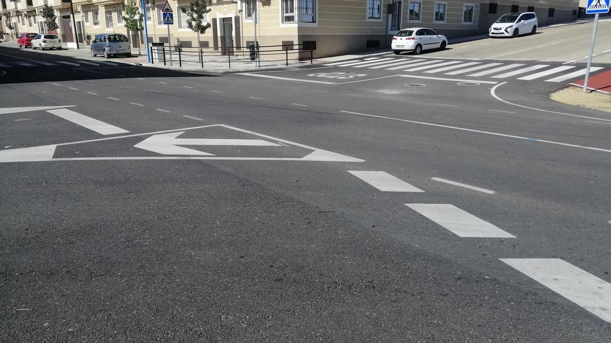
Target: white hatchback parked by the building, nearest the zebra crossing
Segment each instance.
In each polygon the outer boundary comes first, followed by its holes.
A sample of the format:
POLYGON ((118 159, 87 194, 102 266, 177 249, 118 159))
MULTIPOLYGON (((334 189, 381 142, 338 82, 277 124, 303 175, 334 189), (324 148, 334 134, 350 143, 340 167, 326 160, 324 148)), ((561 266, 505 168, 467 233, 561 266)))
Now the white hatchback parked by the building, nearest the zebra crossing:
POLYGON ((413 51, 415 55, 419 55, 423 50, 443 50, 446 46, 448 46, 448 38, 426 27, 403 29, 392 37, 390 43, 390 48, 397 55, 403 51, 413 51))

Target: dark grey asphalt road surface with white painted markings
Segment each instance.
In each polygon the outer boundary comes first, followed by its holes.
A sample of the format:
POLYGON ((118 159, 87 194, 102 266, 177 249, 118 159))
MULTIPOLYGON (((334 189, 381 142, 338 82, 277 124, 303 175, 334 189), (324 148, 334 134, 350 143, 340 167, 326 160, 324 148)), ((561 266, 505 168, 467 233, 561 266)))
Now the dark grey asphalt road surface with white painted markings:
POLYGON ((0 57, 2 341, 611 341, 579 64, 0 57))

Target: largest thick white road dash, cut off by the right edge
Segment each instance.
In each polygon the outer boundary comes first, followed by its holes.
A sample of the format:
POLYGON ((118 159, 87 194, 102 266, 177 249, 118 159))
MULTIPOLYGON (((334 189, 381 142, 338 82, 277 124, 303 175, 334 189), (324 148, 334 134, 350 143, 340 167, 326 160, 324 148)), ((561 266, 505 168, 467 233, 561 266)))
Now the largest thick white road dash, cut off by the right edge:
POLYGON ((501 261, 611 322, 611 284, 559 258, 502 258, 501 261))

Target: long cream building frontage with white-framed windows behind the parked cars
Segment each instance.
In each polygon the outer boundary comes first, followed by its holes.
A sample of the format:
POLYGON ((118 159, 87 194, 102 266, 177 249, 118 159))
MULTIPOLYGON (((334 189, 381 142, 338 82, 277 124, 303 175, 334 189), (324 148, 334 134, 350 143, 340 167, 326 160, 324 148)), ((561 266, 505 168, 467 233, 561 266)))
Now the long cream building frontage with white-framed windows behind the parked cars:
MULTIPOLYGON (((134 47, 146 42, 144 32, 127 32, 123 26, 130 0, 0 1, 0 32, 5 40, 16 40, 24 32, 53 33, 70 47, 77 39, 88 44, 97 34, 116 32, 130 37, 134 47), (54 32, 45 26, 45 5, 57 15, 59 28, 54 32)), ((142 7, 142 0, 136 2, 142 7)), ((208 0, 211 11, 204 20, 210 29, 198 42, 181 11, 189 1, 169 0, 174 11, 170 37, 161 12, 164 2, 144 0, 149 43, 240 51, 255 42, 256 25, 260 46, 312 49, 313 57, 388 48, 392 35, 406 27, 430 27, 456 38, 488 33, 488 27, 505 13, 535 12, 540 25, 547 25, 575 20, 579 8, 579 0, 208 0)))

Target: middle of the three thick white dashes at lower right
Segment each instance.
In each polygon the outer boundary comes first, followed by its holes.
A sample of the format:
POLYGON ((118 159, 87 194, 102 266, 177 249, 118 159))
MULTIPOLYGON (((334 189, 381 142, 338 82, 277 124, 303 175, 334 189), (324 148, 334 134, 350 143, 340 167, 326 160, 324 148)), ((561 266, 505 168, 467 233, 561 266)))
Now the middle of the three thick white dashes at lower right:
POLYGON ((406 204, 459 237, 516 238, 452 204, 406 204))

